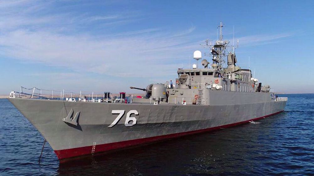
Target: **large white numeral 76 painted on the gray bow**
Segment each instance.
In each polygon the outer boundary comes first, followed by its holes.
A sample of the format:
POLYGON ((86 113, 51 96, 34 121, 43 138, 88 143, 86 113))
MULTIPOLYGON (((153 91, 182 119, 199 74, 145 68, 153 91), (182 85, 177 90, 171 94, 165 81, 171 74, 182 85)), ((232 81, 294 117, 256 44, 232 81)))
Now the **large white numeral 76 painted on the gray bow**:
MULTIPOLYGON (((111 125, 108 126, 108 128, 111 128, 113 126, 115 126, 119 120, 122 118, 122 116, 124 115, 125 111, 124 110, 112 110, 111 114, 119 114, 116 119, 111 123, 111 125)), ((127 117, 125 118, 125 122, 124 125, 126 127, 132 127, 133 125, 136 124, 137 120, 135 117, 130 117, 131 114, 135 114, 136 116, 138 115, 138 111, 136 110, 130 110, 127 112, 127 117), (130 123, 132 122, 132 123, 130 123)))

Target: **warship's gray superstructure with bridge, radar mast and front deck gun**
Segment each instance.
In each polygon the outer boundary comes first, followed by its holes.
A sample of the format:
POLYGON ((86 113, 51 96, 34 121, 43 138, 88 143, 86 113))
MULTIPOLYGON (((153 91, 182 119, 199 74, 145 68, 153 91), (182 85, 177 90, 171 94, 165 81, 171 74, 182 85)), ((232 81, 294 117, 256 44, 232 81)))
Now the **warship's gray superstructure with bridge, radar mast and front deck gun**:
MULTIPOLYGON (((193 64, 192 69, 182 69, 177 70, 178 78, 176 78, 176 85, 171 87, 168 84, 166 87, 166 96, 164 98, 156 100, 156 97, 146 96, 146 99, 149 100, 138 100, 137 98, 133 99, 133 102, 150 102, 154 103, 167 103, 167 104, 181 104, 183 101, 185 104, 194 104, 194 105, 214 105, 218 101, 212 100, 210 102, 210 92, 213 91, 224 91, 226 95, 228 92, 248 92, 248 93, 268 93, 271 94, 272 99, 274 99, 273 90, 269 85, 262 86, 262 83, 258 82, 258 79, 252 77, 252 71, 250 69, 241 69, 241 67, 236 66, 237 59, 234 52, 234 44, 229 46, 230 41, 223 40, 222 35, 222 22, 218 26, 220 28, 219 39, 215 41, 215 44, 206 44, 202 45, 203 47, 209 49, 212 64, 210 64, 206 59, 201 61, 201 68, 198 67, 198 64, 193 64), (225 62, 227 58, 227 62, 225 62), (224 64, 227 64, 227 67, 224 67, 224 64)), ((233 42, 234 43, 234 42, 233 42)), ((196 50, 193 54, 195 60, 200 60, 202 58, 202 53, 199 50, 196 50)), ((149 85, 144 91, 146 94, 151 93, 153 84, 149 85)), ((131 87, 134 88, 134 87, 131 87)), ((140 89, 143 90, 143 89, 140 89)), ((245 99, 243 94, 243 99, 245 99)), ((265 96, 266 94, 255 96, 265 96)), ((270 96, 269 96, 270 97, 270 96)), ((260 101, 260 99, 256 99, 260 101)), ((227 101, 225 102, 227 103, 227 101)), ((225 104, 223 103, 223 104, 225 104)), ((236 103, 236 102, 235 102, 236 103)))

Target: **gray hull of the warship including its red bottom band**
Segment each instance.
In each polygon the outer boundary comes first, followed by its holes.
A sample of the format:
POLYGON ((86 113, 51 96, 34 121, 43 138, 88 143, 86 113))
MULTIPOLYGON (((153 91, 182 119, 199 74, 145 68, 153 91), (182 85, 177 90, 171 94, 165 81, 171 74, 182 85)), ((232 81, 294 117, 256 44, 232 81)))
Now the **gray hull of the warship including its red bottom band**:
POLYGON ((151 105, 9 98, 60 160, 231 127, 274 115, 286 105, 286 101, 259 100, 230 105, 151 105), (113 113, 116 110, 123 111, 121 118, 113 113), (132 113, 135 111, 138 114, 132 113), (77 124, 64 122, 71 112, 79 114, 77 124), (129 117, 136 119, 130 121, 133 126, 127 125, 129 117))

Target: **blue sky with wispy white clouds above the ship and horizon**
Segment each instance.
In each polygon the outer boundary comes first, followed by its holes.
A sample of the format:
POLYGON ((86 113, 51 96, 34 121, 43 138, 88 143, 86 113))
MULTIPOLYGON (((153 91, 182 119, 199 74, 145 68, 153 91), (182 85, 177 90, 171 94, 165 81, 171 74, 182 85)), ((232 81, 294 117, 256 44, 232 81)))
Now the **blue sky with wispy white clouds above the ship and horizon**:
MULTIPOLYGON (((127 91, 174 80, 199 44, 239 39, 238 64, 277 92, 314 93, 312 1, 0 1, 0 94, 127 91)), ((205 58, 210 60, 209 58, 205 58)), ((192 60, 192 63, 194 61, 192 60)))

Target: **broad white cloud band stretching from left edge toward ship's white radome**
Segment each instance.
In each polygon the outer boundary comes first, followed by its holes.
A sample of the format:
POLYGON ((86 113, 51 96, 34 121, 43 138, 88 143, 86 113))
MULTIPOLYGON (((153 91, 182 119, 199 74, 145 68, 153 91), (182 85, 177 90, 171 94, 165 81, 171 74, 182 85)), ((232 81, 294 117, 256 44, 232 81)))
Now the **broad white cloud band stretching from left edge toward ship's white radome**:
POLYGON ((148 77, 169 65, 169 62, 158 60, 177 58, 181 48, 187 47, 180 46, 183 42, 184 39, 170 39, 167 36, 95 39, 88 35, 68 36, 16 30, 0 35, 0 45, 3 46, 0 54, 72 70, 84 69, 123 77, 148 77), (116 69, 121 65, 126 69, 116 69))

